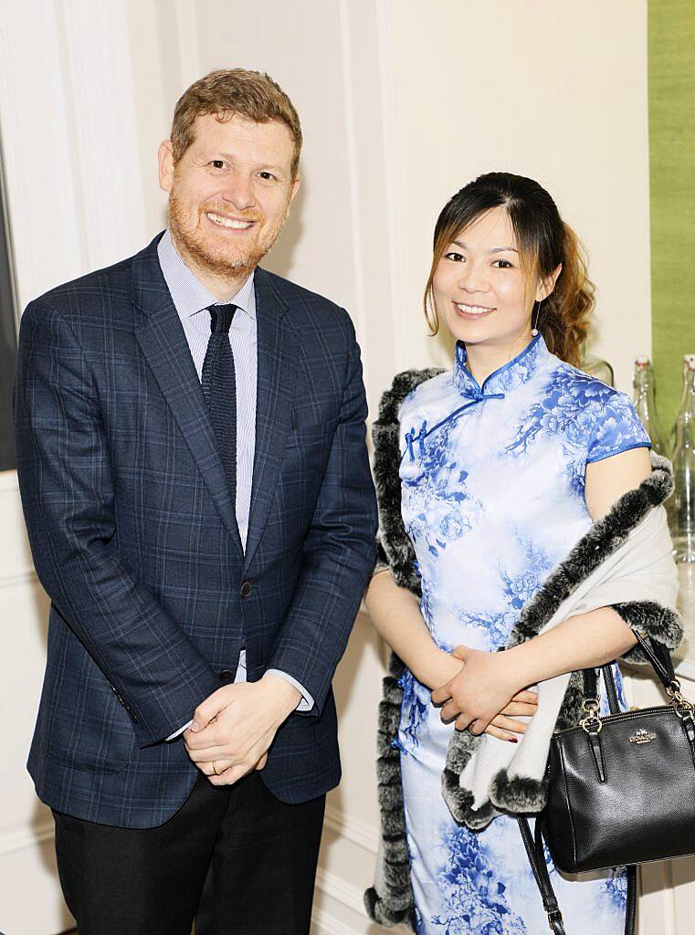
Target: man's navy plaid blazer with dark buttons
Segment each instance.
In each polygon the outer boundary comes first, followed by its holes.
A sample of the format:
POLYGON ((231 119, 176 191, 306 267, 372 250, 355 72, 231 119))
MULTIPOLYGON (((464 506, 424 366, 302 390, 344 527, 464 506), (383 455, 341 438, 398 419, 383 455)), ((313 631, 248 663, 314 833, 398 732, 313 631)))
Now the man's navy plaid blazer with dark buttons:
POLYGON ((280 729, 268 788, 301 802, 338 783, 330 685, 374 560, 347 313, 256 271, 244 555, 158 239, 29 305, 15 385, 22 504, 51 597, 29 770, 56 811, 118 827, 161 825, 181 807, 196 770, 181 740, 164 739, 243 644, 250 681, 281 669, 314 699, 280 729))

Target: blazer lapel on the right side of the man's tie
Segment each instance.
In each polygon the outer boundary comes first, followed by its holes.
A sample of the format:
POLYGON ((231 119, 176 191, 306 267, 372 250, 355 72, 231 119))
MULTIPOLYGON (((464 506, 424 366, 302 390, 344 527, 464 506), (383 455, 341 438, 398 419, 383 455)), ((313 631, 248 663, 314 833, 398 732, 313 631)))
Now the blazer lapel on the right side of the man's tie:
POLYGON ((284 322, 287 303, 272 278, 256 269, 258 389, 253 487, 244 568, 249 568, 275 496, 297 381, 296 336, 284 322))

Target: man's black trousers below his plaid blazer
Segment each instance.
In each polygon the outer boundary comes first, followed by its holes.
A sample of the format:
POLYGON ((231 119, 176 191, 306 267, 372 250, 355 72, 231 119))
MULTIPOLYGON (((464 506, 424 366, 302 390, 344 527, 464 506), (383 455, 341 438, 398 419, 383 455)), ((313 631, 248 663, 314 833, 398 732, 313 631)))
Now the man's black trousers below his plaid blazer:
POLYGON ((79 935, 308 935, 326 796, 285 805, 252 772, 201 774, 160 827, 55 818, 58 872, 79 935))

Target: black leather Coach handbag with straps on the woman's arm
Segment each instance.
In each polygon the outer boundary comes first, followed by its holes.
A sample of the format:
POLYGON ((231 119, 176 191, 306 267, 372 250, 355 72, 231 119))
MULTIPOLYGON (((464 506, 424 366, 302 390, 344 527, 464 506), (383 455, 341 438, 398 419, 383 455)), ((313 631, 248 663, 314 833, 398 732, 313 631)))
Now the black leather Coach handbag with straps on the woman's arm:
POLYGON ((610 715, 599 713, 596 669, 584 672, 584 717, 550 744, 548 801, 532 837, 519 827, 552 931, 565 935, 543 856, 581 873, 628 866, 626 935, 634 931, 638 863, 695 853, 695 720, 681 694, 671 654, 635 632, 670 704, 621 712, 610 666, 603 683, 610 715))

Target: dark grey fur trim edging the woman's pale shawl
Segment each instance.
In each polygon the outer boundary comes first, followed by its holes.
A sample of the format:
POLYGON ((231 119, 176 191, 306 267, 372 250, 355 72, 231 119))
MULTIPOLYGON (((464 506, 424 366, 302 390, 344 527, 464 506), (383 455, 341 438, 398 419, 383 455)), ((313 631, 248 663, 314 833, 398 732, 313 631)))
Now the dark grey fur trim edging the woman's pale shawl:
MULTIPOLYGON (((413 544, 400 513, 398 411, 416 386, 440 372, 432 368, 398 374, 391 389, 382 397, 379 419, 373 427, 374 478, 380 518, 377 568, 380 565, 390 567, 396 583, 418 597, 421 588, 413 544)), ((585 581, 608 555, 614 554, 628 538, 630 530, 662 504, 672 490, 670 463, 653 454, 651 477, 636 490, 620 497, 612 510, 588 529, 567 558, 551 572, 543 587, 521 611, 505 648, 536 636, 579 583, 585 581)), ((671 650, 682 639, 682 621, 670 608, 652 601, 615 604, 614 607, 631 627, 647 633, 671 650)), ((631 649, 626 659, 646 661, 639 647, 631 649)), ((399 680, 404 668, 398 656, 392 654, 389 675, 384 678, 384 697, 379 706, 377 778, 382 836, 375 884, 365 894, 365 905, 369 917, 375 922, 384 926, 404 923, 414 930, 413 888, 397 744, 403 698, 399 680)), ((557 718, 557 729, 578 724, 582 700, 581 673, 574 672, 557 718)), ((487 809, 484 806, 479 813, 471 813, 471 795, 459 784, 460 774, 480 740, 466 731, 454 731, 442 773, 442 795, 456 821, 462 823, 465 819, 469 827, 485 827, 497 813, 491 806, 487 809)), ((537 811, 543 806, 544 790, 539 793, 537 784, 532 784, 533 787, 529 784, 526 788, 523 781, 517 779, 508 785, 496 788, 494 798, 510 813, 537 811)))

